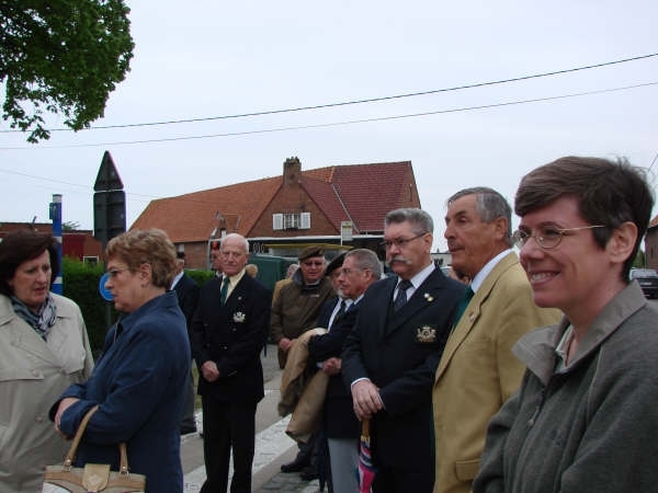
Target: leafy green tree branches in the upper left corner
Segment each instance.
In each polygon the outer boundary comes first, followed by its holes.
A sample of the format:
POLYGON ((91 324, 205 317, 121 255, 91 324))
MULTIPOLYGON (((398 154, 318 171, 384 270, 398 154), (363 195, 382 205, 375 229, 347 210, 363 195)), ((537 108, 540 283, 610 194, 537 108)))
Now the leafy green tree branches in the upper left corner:
POLYGON ((103 116, 133 58, 124 0, 0 0, 2 118, 48 139, 44 113, 73 130, 103 116))

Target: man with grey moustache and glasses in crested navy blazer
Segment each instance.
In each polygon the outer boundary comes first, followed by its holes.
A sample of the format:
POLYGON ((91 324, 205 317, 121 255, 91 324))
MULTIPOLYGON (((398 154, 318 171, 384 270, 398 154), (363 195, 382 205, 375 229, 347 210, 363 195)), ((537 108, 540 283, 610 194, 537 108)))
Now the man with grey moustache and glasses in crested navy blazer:
POLYGON ((386 215, 397 275, 365 293, 342 353, 354 412, 372 420, 374 493, 430 493, 434 483, 432 383, 465 286, 434 266, 433 226, 417 208, 386 215))

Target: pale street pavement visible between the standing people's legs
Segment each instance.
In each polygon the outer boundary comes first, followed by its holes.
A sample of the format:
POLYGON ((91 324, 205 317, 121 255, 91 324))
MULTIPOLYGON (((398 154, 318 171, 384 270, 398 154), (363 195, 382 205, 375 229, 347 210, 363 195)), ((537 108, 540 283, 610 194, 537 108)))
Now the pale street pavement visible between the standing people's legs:
MULTIPOLYGON (((265 381, 265 398, 258 404, 256 413, 256 454, 253 458, 253 493, 315 493, 318 481, 304 481, 298 473, 281 472, 281 465, 290 462, 297 454, 295 442, 285 434, 290 416, 281 419, 276 411, 280 399, 281 374, 276 360, 276 346, 269 345, 261 353, 265 381), (266 354, 265 354, 266 353, 266 354)), ((203 415, 196 413, 200 431, 203 415)), ((184 492, 198 493, 204 480, 203 438, 198 433, 181 437, 181 459, 184 472, 184 492)), ((232 474, 232 463, 229 474, 232 474)))

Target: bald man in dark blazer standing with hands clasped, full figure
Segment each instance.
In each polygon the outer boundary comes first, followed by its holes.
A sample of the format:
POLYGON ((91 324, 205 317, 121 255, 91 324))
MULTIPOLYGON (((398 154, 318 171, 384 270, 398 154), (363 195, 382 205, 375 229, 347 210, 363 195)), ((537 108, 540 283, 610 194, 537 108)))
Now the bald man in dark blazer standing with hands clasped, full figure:
POLYGON ((272 294, 245 272, 249 243, 226 236, 223 276, 201 288, 192 321, 192 354, 200 369, 206 481, 201 493, 226 492, 232 449, 232 493, 251 492, 256 408, 264 397, 260 351, 272 294))

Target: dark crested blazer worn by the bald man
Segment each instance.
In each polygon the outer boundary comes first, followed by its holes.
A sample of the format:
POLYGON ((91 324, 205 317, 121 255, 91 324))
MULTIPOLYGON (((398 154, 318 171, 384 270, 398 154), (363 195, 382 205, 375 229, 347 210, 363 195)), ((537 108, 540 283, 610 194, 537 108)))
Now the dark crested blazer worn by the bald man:
POLYGON ((220 289, 220 277, 201 288, 192 320, 192 355, 197 366, 213 360, 219 369, 214 382, 200 378, 198 393, 223 402, 258 402, 264 395, 260 352, 270 326, 272 293, 247 274, 224 306, 220 289))

